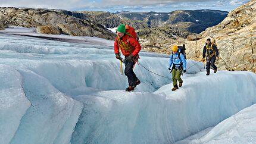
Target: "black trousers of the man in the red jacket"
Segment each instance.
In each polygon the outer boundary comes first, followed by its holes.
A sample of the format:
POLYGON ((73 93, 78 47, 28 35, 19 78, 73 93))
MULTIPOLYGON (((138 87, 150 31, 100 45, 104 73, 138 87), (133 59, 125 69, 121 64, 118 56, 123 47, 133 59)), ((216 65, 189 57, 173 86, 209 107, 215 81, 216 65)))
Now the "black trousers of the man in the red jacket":
POLYGON ((138 80, 138 77, 136 77, 136 74, 133 71, 134 62, 129 60, 124 60, 124 65, 126 66, 126 68, 124 68, 124 74, 128 78, 129 86, 133 86, 135 82, 138 80))

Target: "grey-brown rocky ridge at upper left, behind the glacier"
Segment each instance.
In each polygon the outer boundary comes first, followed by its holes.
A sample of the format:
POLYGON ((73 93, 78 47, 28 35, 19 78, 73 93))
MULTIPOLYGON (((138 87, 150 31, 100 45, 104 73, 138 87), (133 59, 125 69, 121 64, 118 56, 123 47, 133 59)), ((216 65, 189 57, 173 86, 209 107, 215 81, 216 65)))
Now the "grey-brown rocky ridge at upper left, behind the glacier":
POLYGON ((96 36, 104 39, 114 39, 115 37, 113 33, 99 24, 93 24, 88 20, 54 10, 0 8, 0 19, 4 20, 5 24, 14 26, 57 27, 61 33, 74 36, 96 36))

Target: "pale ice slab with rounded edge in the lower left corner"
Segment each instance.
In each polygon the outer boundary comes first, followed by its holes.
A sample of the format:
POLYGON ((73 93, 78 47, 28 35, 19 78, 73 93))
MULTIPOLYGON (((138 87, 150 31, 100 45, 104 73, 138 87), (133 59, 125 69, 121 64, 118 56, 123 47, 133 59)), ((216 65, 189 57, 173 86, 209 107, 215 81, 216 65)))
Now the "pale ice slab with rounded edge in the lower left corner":
POLYGON ((0 64, 0 142, 9 143, 30 106, 23 77, 13 67, 0 64))

